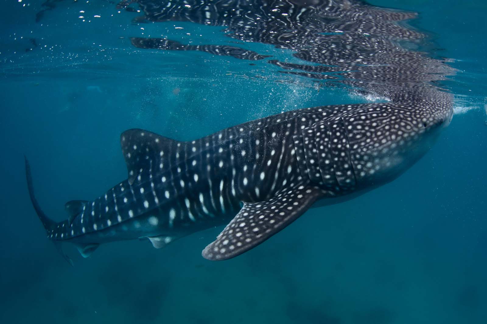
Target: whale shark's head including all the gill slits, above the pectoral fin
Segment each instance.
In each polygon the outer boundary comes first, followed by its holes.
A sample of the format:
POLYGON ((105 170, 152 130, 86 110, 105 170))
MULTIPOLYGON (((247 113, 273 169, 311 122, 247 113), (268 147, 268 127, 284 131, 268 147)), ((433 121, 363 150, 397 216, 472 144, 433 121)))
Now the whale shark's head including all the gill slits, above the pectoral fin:
POLYGON ((421 100, 344 105, 343 114, 302 130, 300 168, 333 192, 381 185, 423 156, 450 123, 450 94, 421 100))

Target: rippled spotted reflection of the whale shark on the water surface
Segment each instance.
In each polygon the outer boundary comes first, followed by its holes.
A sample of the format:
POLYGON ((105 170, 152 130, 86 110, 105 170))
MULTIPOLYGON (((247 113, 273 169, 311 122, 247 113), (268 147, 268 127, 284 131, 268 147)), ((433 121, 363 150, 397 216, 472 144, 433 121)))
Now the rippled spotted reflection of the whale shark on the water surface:
MULTIPOLYGON (((138 4, 143 13, 137 18, 139 22, 222 26, 225 36, 243 42, 244 47, 248 42, 268 44, 299 59, 269 61, 285 70, 281 72, 311 77, 326 85, 354 86, 392 101, 410 100, 415 92, 410 88, 444 80, 455 72, 445 60, 413 50, 431 47, 425 34, 404 23, 416 13, 379 8, 361 0, 122 0, 118 8, 127 9, 131 4, 138 4)), ((132 38, 132 44, 145 49, 231 55, 226 45, 183 45, 160 38, 132 38)), ((247 51, 232 49, 237 54, 247 51)), ((246 55, 232 56, 248 59, 246 55)), ((252 57, 265 55, 252 52, 252 57)))

